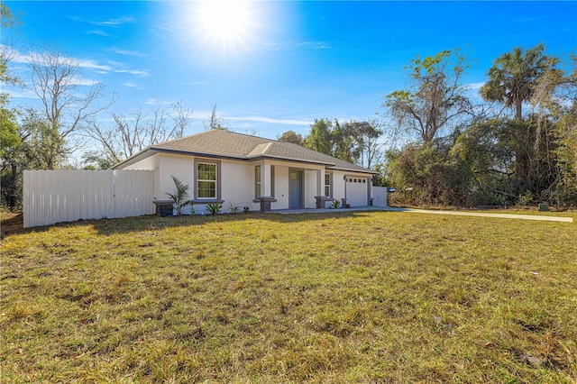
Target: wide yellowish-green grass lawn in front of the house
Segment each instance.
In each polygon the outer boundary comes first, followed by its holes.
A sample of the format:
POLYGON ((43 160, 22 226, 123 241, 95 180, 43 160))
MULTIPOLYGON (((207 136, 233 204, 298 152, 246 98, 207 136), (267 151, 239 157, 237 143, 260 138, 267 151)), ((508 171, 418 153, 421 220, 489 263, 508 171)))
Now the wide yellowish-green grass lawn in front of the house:
POLYGON ((576 239, 574 223, 393 212, 12 234, 0 376, 575 382, 576 239))

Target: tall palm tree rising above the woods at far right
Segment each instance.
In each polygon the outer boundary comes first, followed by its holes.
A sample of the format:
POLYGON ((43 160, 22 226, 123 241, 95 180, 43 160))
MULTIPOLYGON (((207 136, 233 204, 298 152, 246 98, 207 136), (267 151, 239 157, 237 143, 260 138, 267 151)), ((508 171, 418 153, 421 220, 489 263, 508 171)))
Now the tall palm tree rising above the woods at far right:
POLYGON ((514 107, 515 118, 522 120, 523 102, 535 93, 536 80, 557 64, 557 59, 545 56, 544 51, 545 46, 539 44, 525 52, 517 47, 503 53, 489 69, 489 81, 481 87, 481 96, 514 107))

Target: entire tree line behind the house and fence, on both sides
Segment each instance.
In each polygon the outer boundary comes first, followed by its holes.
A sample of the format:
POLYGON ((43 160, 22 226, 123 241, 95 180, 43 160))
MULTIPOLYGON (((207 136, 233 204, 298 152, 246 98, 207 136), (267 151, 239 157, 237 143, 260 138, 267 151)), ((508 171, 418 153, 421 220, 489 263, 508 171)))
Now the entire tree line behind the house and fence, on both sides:
MULTIPOLYGON (((2 27, 17 22, 2 3, 2 27)), ((9 68, 14 50, 2 46, 0 80, 26 87, 40 103, 14 108, 0 95, 0 200, 22 205, 23 169, 107 169, 145 147, 181 137, 192 110, 111 114, 102 84, 80 86, 78 61, 55 47, 28 54, 28 81, 9 68), (80 163, 73 154, 83 151, 80 163)), ((577 58, 563 69, 544 45, 515 48, 495 59, 477 95, 463 83, 470 60, 444 50, 408 63, 408 83, 383 96, 380 117, 342 122, 316 119, 304 137, 289 131, 279 141, 379 172, 373 183, 396 187, 411 204, 509 206, 546 201, 577 205, 577 58)), ((216 105, 205 129, 228 129, 216 105)))

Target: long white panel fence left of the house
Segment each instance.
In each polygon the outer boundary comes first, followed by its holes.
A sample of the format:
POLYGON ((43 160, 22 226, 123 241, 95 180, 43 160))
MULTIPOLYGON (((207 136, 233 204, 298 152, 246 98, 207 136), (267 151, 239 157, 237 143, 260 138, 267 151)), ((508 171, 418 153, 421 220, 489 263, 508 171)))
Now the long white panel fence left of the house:
POLYGON ((24 170, 24 228, 151 215, 152 170, 24 170))

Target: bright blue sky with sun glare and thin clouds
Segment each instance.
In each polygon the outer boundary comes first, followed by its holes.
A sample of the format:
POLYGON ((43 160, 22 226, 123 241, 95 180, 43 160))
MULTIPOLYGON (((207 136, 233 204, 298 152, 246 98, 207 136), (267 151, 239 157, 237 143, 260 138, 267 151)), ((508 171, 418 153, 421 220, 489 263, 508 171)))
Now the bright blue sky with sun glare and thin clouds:
MULTIPOLYGON (((229 32, 218 30, 222 19, 207 23, 201 2, 5 4, 23 24, 3 31, 3 43, 23 56, 58 45, 81 64, 80 84, 117 94, 109 113, 180 101, 194 110, 187 133, 203 130, 215 103, 232 130, 268 138, 306 134, 315 118, 375 118, 382 96, 406 86, 416 55, 460 48, 474 89, 516 46, 545 43, 563 59, 577 49, 577 2, 261 1, 235 11, 243 23, 229 32)), ((234 5, 219 6, 231 17, 234 5)), ((16 105, 34 103, 24 90, 13 95, 16 105)))

